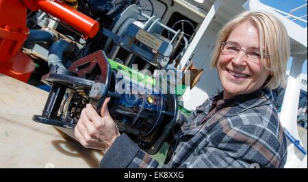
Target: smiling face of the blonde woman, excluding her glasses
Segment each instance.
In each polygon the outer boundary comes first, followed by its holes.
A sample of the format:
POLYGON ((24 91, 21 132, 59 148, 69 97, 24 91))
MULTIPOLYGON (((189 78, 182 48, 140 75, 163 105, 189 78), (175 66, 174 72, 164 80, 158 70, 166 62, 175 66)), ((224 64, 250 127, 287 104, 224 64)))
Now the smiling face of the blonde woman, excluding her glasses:
MULTIPOLYGON (((227 42, 232 42, 241 49, 259 52, 258 31, 248 21, 235 27, 227 42)), ((224 88, 224 99, 258 90, 270 75, 263 64, 248 60, 244 51, 239 51, 235 55, 222 51, 217 68, 222 88, 224 88)))

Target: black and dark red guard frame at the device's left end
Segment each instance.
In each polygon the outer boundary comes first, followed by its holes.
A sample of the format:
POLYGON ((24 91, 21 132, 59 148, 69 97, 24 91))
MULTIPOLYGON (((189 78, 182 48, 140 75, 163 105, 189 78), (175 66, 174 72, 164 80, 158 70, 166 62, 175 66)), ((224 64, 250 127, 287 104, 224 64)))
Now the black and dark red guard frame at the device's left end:
POLYGON ((51 86, 49 97, 44 106, 42 116, 34 115, 33 120, 58 127, 73 128, 75 119, 58 114, 66 89, 85 90, 90 92, 94 83, 103 83, 105 89, 100 99, 90 99, 97 112, 100 114, 105 101, 107 90, 110 86, 111 68, 107 56, 101 50, 81 57, 74 62, 68 70, 52 66, 47 75, 41 79, 43 83, 51 86))

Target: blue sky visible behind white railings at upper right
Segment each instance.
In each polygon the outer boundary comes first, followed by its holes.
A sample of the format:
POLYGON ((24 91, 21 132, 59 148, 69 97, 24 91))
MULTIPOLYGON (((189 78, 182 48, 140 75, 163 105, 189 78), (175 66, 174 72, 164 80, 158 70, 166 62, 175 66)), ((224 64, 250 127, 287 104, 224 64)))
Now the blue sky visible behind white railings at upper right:
MULTIPOLYGON (((307 4, 307 0, 259 0, 261 3, 264 3, 266 5, 270 5, 273 8, 276 8, 278 10, 281 10, 283 12, 290 12, 294 8, 297 8, 300 5, 304 5, 305 3, 307 4)), ((305 8, 301 8, 300 10, 294 12, 295 16, 303 16, 307 14, 307 6, 305 8)), ((307 17, 303 18, 307 21, 307 17)), ((307 27, 307 23, 303 23, 300 21, 295 21, 298 23, 298 25, 302 27, 307 27)), ((292 59, 289 60, 287 63, 288 69, 291 68, 292 65, 292 59)), ((303 64, 303 70, 302 73, 307 74, 307 60, 303 64)))

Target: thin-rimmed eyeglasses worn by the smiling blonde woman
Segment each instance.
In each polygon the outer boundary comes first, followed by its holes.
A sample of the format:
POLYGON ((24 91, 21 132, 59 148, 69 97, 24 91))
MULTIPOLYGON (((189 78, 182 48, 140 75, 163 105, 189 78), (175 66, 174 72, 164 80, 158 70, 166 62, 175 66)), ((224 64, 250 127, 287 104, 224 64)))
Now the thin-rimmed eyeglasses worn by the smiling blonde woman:
POLYGON ((247 51, 245 49, 241 49, 237 44, 233 44, 231 42, 221 42, 221 51, 226 55, 237 55, 240 51, 243 51, 247 57, 247 59, 255 64, 262 64, 262 60, 269 57, 267 53, 263 53, 263 57, 259 51, 247 51))

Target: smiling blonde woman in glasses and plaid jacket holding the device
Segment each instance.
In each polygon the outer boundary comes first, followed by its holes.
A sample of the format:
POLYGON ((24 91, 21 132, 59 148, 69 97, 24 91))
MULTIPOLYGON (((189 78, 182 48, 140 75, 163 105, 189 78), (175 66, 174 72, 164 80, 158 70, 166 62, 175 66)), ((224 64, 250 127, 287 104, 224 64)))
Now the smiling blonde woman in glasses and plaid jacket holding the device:
POLYGON ((212 66, 223 91, 179 120, 165 164, 118 129, 105 101, 99 116, 81 113, 75 136, 82 145, 107 151, 101 168, 283 168, 287 148, 272 89, 285 85, 290 43, 281 22, 264 12, 243 12, 220 33, 212 66))

